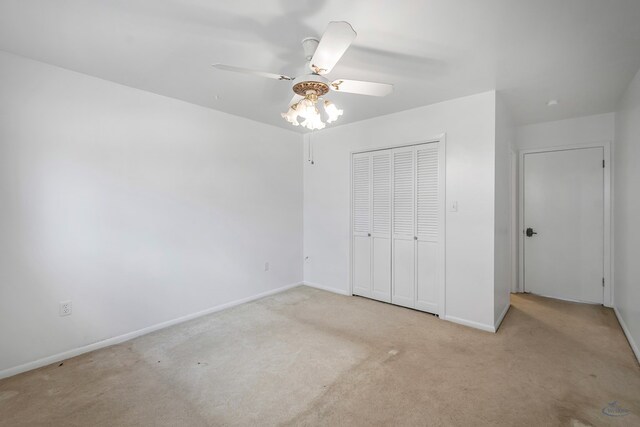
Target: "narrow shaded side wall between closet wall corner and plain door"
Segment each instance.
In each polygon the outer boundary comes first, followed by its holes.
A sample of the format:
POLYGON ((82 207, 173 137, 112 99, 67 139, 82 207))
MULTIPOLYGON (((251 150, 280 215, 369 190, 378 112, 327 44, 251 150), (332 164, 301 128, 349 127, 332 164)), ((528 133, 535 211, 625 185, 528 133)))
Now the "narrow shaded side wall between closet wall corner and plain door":
POLYGON ((510 305, 512 287, 512 183, 511 147, 515 143, 515 126, 509 108, 500 94, 496 97, 495 149, 495 287, 494 323, 496 328, 510 305))

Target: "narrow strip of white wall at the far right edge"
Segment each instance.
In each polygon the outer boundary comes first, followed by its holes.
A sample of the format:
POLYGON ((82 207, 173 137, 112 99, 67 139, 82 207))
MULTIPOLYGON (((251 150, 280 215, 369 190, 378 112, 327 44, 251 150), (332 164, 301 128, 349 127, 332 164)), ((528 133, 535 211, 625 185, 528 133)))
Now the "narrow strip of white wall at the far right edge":
POLYGON ((614 306, 640 360, 640 72, 616 112, 614 306))

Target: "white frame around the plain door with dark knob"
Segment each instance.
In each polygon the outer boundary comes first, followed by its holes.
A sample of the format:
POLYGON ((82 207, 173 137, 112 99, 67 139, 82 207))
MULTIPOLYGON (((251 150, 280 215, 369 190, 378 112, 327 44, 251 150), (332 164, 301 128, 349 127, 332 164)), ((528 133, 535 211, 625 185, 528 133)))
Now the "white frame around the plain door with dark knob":
POLYGON ((611 141, 600 141, 589 144, 573 144, 535 149, 523 149, 518 152, 518 288, 524 292, 524 156, 526 154, 548 153, 554 151, 570 151, 589 148, 602 148, 604 155, 604 241, 603 241, 603 275, 604 292, 602 304, 613 307, 613 274, 611 271, 611 141))

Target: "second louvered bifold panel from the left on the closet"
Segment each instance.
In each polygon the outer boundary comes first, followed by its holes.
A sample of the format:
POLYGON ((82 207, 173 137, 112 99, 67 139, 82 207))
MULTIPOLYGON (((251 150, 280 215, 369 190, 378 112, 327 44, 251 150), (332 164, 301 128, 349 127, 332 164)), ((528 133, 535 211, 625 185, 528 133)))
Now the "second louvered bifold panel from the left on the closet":
POLYGON ((391 302, 391 152, 372 152, 371 170, 371 297, 391 302))

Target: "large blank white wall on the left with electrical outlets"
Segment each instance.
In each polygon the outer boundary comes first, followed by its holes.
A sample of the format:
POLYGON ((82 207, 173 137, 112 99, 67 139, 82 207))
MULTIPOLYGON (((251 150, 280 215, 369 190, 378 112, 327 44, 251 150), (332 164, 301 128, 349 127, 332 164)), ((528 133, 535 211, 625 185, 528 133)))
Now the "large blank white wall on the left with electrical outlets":
POLYGON ((5 53, 0 94, 0 374, 302 280, 299 134, 5 53))

